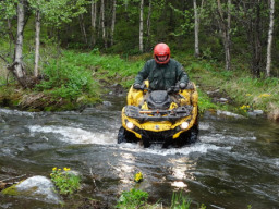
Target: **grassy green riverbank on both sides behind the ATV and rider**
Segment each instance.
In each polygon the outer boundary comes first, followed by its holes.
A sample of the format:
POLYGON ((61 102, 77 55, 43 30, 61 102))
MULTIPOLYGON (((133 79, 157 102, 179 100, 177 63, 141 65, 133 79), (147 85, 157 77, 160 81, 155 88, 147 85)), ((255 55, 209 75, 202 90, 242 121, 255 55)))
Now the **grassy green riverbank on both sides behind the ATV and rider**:
MULTIPOLYGON (((44 66, 44 79, 34 89, 23 90, 14 82, 0 87, 0 106, 27 111, 81 110, 102 101, 101 95, 128 89, 136 73, 151 54, 122 59, 119 56, 62 51, 44 66)), ((192 56, 174 57, 196 83, 199 111, 229 110, 243 115, 263 110, 268 119, 279 121, 278 78, 252 78, 235 71, 223 71, 218 62, 192 56)), ((2 79, 3 83, 3 79, 2 79)))

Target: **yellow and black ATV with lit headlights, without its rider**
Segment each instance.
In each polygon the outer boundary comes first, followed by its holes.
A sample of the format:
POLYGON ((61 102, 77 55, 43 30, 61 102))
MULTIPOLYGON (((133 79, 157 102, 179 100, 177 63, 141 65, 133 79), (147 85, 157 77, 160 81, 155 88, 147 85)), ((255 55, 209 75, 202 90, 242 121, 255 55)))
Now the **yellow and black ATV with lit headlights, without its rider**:
POLYGON ((128 106, 122 109, 122 126, 118 143, 142 142, 144 147, 160 143, 183 146, 194 143, 198 134, 198 94, 194 83, 185 89, 148 90, 148 81, 142 89, 133 86, 128 93, 128 106))

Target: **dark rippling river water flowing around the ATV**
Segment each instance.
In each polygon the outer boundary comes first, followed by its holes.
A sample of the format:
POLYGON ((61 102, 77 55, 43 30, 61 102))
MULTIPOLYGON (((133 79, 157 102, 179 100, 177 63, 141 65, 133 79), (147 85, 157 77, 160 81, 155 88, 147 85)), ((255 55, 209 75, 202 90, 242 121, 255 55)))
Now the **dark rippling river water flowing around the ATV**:
MULTIPOLYGON (((168 205, 173 190, 183 189, 194 208, 279 208, 278 124, 208 113, 201 119, 199 142, 179 149, 144 149, 116 143, 125 99, 111 103, 82 112, 0 109, 0 181, 48 176, 53 167, 70 167, 84 176, 84 196, 113 205, 121 192, 135 186, 133 176, 142 171, 144 182, 136 187, 154 202, 168 205)), ((7 196, 0 202, 0 208, 51 208, 7 196)))

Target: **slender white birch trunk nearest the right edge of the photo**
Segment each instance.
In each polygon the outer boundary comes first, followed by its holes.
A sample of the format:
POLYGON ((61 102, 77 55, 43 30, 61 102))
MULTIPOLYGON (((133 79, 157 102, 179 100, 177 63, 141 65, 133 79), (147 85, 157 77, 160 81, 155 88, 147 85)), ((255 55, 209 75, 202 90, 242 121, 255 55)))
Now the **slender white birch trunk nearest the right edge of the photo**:
POLYGON ((267 41, 267 61, 266 61, 266 76, 270 77, 270 66, 271 66, 271 47, 274 38, 274 25, 275 25, 275 0, 269 2, 269 29, 268 29, 268 41, 267 41))

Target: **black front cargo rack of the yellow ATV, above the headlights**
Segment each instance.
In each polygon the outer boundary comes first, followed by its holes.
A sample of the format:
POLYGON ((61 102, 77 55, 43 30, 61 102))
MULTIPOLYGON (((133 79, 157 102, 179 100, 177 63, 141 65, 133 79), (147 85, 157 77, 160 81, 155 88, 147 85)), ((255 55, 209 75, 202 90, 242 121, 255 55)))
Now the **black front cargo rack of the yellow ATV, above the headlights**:
POLYGON ((172 110, 143 110, 135 106, 125 106, 125 115, 138 120, 140 123, 146 121, 170 121, 189 116, 193 106, 183 106, 172 110))

